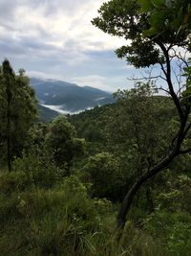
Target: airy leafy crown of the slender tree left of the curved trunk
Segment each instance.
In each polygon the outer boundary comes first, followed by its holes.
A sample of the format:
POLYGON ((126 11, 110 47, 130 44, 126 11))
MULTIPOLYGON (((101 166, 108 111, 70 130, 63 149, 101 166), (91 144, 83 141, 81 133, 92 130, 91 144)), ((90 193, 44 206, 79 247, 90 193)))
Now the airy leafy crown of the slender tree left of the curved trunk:
POLYGON ((150 162, 159 158, 168 146, 166 141, 172 139, 165 131, 172 125, 174 105, 170 98, 157 93, 153 83, 138 82, 131 90, 118 90, 116 107, 105 113, 107 141, 114 148, 116 145, 121 148, 121 152, 137 151, 135 161, 140 169, 145 161, 148 164, 147 158, 150 162))

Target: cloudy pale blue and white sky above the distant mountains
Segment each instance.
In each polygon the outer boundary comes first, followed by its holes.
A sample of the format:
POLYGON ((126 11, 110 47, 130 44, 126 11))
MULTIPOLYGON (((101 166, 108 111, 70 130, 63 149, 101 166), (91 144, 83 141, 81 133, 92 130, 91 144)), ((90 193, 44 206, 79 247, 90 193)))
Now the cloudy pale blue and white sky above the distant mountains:
POLYGON ((128 88, 135 69, 118 59, 123 41, 91 24, 103 0, 0 0, 0 56, 30 77, 108 91, 128 88))

